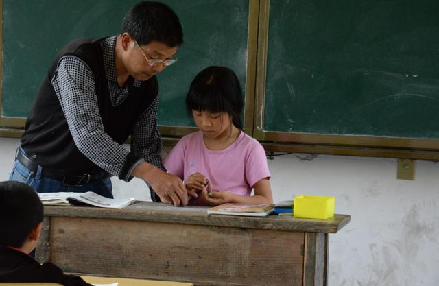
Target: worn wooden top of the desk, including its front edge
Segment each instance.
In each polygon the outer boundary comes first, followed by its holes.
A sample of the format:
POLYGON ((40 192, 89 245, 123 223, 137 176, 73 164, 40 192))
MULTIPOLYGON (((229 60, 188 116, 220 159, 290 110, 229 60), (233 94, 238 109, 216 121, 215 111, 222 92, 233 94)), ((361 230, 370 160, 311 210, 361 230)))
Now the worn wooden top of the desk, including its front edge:
POLYGON ((241 217, 236 215, 208 215, 209 206, 178 207, 157 202, 138 202, 122 209, 85 206, 45 206, 49 217, 88 217, 126 219, 171 224, 198 224, 267 230, 302 231, 309 233, 337 233, 351 221, 350 215, 334 215, 330 219, 302 219, 288 216, 241 217))

